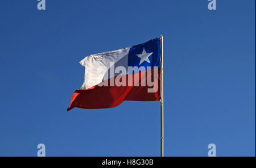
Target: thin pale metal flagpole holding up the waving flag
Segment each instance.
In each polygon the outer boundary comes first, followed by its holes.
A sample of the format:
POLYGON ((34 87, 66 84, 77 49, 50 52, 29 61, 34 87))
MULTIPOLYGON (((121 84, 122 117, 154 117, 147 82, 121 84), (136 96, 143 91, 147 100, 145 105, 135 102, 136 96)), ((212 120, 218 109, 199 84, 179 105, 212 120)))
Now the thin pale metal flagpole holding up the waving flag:
POLYGON ((160 124, 161 124, 161 138, 160 138, 160 156, 164 156, 164 148, 163 148, 163 140, 164 140, 164 116, 163 116, 163 36, 160 36, 160 62, 161 62, 161 70, 160 70, 160 124))

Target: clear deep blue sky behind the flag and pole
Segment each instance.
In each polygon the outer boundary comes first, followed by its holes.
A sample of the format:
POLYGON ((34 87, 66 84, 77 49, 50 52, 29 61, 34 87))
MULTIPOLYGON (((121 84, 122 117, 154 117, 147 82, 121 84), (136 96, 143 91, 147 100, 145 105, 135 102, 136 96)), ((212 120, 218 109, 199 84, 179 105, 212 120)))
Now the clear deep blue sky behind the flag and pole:
POLYGON ((255 1, 0 1, 0 156, 159 156, 159 102, 75 108, 85 56, 164 36, 165 156, 255 156, 255 1))

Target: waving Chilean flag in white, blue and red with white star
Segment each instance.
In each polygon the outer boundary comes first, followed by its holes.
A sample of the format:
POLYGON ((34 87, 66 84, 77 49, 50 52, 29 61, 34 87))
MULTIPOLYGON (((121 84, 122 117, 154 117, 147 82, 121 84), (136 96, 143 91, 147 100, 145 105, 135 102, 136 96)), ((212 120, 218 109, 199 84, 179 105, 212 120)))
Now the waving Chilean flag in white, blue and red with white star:
POLYGON ((125 100, 160 100, 160 37, 117 51, 91 54, 80 61, 84 83, 68 108, 116 107, 125 100))

